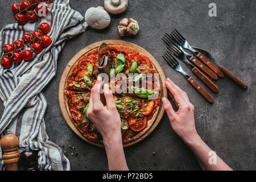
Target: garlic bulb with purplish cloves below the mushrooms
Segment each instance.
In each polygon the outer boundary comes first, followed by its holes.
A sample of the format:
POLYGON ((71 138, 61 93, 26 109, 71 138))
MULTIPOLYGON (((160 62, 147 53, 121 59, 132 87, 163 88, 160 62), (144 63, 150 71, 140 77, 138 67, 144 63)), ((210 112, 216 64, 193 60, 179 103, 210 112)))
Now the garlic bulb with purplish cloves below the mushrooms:
POLYGON ((118 32, 120 36, 136 35, 139 31, 139 24, 133 18, 123 18, 119 22, 118 32))

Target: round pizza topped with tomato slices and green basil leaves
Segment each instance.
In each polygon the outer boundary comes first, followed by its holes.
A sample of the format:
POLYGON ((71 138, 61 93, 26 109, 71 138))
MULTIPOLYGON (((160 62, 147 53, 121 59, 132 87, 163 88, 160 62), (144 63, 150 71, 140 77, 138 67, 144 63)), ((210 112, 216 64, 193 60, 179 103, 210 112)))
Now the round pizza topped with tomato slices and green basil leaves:
MULTIPOLYGON (((110 45, 103 56, 108 56, 108 63, 114 70, 110 75, 123 73, 127 76, 125 89, 134 91, 119 92, 123 89, 123 85, 120 84, 123 81, 122 78, 109 81, 110 88, 113 85, 111 89, 115 91, 113 95, 121 118, 123 143, 131 142, 150 129, 158 114, 161 90, 159 81, 156 80, 158 77, 154 77, 157 71, 147 56, 129 46, 110 45), (129 77, 130 73, 135 73, 136 76, 129 77), (142 75, 148 74, 152 75, 150 81, 142 77, 142 75), (139 82, 138 88, 141 88, 142 85, 148 86, 146 92, 135 92, 137 87, 128 84, 133 83, 135 79, 139 82), (154 90, 157 90, 158 94, 154 90)), ((101 134, 86 114, 90 90, 99 74, 98 48, 94 48, 84 53, 73 65, 65 83, 64 93, 70 117, 77 130, 87 139, 96 143, 103 143, 101 134)))

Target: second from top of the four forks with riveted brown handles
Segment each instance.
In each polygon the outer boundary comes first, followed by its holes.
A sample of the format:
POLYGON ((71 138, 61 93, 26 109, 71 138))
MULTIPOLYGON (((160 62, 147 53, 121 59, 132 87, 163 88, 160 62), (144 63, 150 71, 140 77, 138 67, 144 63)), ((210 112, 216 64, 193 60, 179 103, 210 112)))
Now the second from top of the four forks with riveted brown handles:
POLYGON ((177 44, 177 42, 172 38, 171 35, 165 34, 165 36, 163 36, 163 40, 167 45, 170 45, 172 42, 172 44, 175 44, 176 47, 179 47, 179 49, 177 51, 175 51, 177 54, 177 57, 179 59, 181 59, 183 61, 191 60, 192 63, 194 63, 195 65, 197 65, 197 67, 199 67, 201 70, 203 70, 205 73, 207 73, 207 75, 209 75, 211 78, 213 78, 213 80, 218 80, 218 76, 212 70, 210 70, 203 63, 201 63, 201 61, 196 59, 195 56, 189 55, 187 52, 185 52, 183 50, 183 48, 181 46, 179 46, 179 44, 177 44))

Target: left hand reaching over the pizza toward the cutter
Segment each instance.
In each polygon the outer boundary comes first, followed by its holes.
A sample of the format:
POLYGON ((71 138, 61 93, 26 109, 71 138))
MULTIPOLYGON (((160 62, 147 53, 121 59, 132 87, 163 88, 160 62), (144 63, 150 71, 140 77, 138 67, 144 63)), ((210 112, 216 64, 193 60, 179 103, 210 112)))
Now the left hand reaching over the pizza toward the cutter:
POLYGON ((96 84, 91 90, 87 115, 101 133, 104 143, 110 140, 122 140, 121 119, 115 106, 113 94, 108 84, 104 84, 103 92, 106 106, 101 102, 100 89, 102 78, 98 76, 96 84))

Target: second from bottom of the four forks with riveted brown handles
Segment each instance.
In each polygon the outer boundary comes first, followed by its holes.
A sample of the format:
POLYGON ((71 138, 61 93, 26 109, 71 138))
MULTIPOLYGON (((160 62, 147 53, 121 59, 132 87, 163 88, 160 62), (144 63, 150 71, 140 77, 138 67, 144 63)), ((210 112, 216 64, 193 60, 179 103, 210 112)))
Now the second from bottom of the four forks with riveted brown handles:
MULTIPOLYGON (((164 42, 166 42, 167 40, 165 40, 163 38, 164 42)), ((167 42, 166 42, 167 43, 167 42)), ((171 42, 168 42, 168 45, 170 47, 167 47, 167 49, 173 54, 175 55, 176 57, 178 56, 178 54, 176 53, 177 51, 178 52, 181 52, 181 49, 182 47, 176 47, 174 46, 174 44, 172 44, 171 42)), ((183 50, 183 49, 182 49, 183 50)), ((186 52, 184 51, 184 54, 186 52)), ((205 85, 207 85, 213 92, 218 92, 218 87, 212 82, 210 81, 210 79, 204 75, 204 73, 202 73, 198 68, 195 67, 195 65, 191 64, 188 60, 187 60, 187 57, 185 59, 182 59, 181 61, 183 61, 184 63, 187 63, 188 67, 192 69, 192 71, 195 73, 195 75, 197 77, 200 78, 200 80, 202 80, 205 85)))

